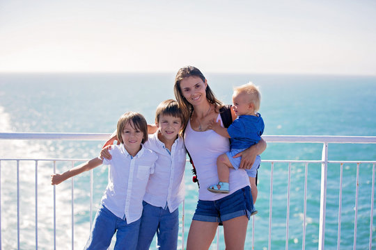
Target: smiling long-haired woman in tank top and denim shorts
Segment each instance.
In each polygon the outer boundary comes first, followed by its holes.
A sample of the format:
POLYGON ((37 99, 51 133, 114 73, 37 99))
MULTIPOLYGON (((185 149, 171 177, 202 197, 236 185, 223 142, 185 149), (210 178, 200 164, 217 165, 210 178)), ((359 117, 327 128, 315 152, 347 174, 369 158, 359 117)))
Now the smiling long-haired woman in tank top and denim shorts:
MULTIPOLYGON (((207 186, 218 182, 217 157, 229 150, 227 138, 207 128, 213 119, 221 119, 217 100, 205 76, 196 67, 182 67, 176 74, 175 97, 188 120, 185 128, 185 147, 196 167, 201 188, 198 204, 187 239, 187 250, 209 249, 219 223, 224 225, 226 249, 244 249, 246 227, 253 204, 249 178, 245 171, 230 170, 230 192, 214 194, 207 186)), ((232 110, 233 119, 236 118, 232 110)), ((256 156, 266 148, 261 139, 249 149, 242 151, 240 168, 250 168, 256 156)))

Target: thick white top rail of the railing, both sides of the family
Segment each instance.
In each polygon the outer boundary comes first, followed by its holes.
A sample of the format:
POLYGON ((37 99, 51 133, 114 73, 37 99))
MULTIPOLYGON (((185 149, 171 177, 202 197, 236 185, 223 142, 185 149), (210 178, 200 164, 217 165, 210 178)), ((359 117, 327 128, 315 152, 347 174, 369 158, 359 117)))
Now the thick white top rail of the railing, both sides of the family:
MULTIPOLYGON (((108 140, 109 133, 0 133, 2 140, 108 140)), ((376 143, 376 136, 263 135, 266 142, 376 143)))

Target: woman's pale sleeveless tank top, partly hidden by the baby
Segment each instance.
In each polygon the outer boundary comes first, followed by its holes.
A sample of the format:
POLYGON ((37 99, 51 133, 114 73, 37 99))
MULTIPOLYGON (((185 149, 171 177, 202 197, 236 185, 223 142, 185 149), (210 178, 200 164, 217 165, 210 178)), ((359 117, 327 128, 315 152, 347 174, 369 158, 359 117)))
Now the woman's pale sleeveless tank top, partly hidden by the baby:
MULTIPOLYGON (((221 115, 218 115, 217 120, 221 120, 221 115)), ((222 121, 221 126, 224 126, 222 121)), ((219 182, 217 158, 222 153, 230 150, 228 138, 224 138, 212 130, 203 132, 194 131, 191 128, 191 122, 188 121, 187 128, 185 128, 185 147, 189 151, 196 167, 197 178, 200 183, 198 199, 202 201, 215 201, 249 185, 249 178, 244 169, 230 169, 229 194, 214 194, 207 190, 209 185, 219 182)))

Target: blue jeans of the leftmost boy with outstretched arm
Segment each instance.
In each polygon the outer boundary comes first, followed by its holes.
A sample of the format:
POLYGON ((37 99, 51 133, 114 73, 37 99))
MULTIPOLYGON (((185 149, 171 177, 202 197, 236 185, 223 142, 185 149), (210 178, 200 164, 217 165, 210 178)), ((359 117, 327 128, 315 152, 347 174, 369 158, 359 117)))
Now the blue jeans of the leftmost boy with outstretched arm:
POLYGON ((113 249, 136 249, 140 224, 141 218, 127 224, 127 219, 120 219, 101 205, 95 215, 91 235, 84 249, 107 249, 114 233, 116 233, 116 243, 113 249))

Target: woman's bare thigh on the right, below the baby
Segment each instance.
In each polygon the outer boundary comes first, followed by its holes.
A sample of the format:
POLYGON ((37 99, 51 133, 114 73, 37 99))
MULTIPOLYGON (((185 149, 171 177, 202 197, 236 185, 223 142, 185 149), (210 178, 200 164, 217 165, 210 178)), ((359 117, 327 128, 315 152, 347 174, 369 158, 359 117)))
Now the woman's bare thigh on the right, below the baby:
POLYGON ((224 222, 224 239, 226 250, 243 250, 246 238, 246 215, 235 217, 224 222))

